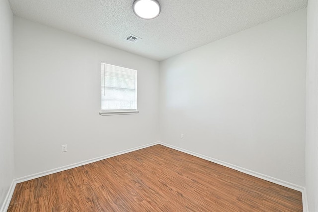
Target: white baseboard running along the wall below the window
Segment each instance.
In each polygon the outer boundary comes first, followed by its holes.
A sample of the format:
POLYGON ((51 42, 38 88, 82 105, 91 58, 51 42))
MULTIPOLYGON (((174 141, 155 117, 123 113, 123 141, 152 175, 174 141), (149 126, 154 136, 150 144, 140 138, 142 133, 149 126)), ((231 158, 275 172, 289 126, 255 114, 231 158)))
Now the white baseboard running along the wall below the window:
POLYGON ((35 178, 43 177, 43 176, 46 176, 46 175, 54 174, 54 173, 57 173, 57 172, 68 170, 68 169, 73 169, 73 168, 76 168, 76 167, 79 167, 79 166, 82 166, 82 165, 86 165, 86 164, 97 162, 97 161, 104 160, 104 159, 107 159, 107 158, 115 157, 115 156, 122 155, 122 154, 125 154, 125 153, 133 152, 133 151, 136 151, 136 150, 139 150, 139 149, 143 149, 143 148, 146 148, 146 147, 150 147, 150 146, 154 146, 154 145, 157 145, 157 144, 159 144, 159 142, 154 142, 154 143, 138 146, 138 147, 135 147, 135 148, 131 148, 131 149, 123 150, 123 151, 120 151, 120 152, 104 155, 104 156, 101 156, 101 157, 97 157, 97 158, 81 161, 81 162, 78 162, 78 163, 62 166, 62 167, 59 167, 59 168, 50 169, 50 170, 47 170, 47 171, 44 171, 44 172, 35 173, 35 174, 28 175, 28 176, 25 176, 25 177, 16 178, 14 181, 16 183, 21 183, 21 182, 24 182, 24 181, 32 180, 32 179, 35 179, 35 178))

